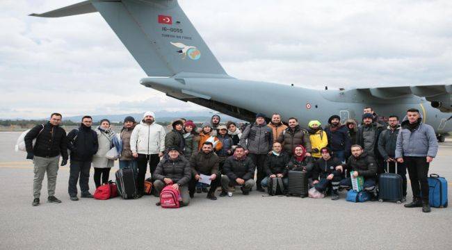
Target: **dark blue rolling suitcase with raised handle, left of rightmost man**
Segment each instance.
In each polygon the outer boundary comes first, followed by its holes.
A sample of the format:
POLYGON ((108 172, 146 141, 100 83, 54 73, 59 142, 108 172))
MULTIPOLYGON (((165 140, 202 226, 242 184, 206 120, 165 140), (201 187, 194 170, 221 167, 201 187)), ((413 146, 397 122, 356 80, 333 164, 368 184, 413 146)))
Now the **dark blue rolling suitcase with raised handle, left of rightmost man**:
POLYGON ((387 173, 380 174, 378 179, 378 201, 396 201, 401 203, 403 198, 402 176, 397 174, 397 163, 394 167, 396 173, 389 173, 389 163, 387 163, 387 173))

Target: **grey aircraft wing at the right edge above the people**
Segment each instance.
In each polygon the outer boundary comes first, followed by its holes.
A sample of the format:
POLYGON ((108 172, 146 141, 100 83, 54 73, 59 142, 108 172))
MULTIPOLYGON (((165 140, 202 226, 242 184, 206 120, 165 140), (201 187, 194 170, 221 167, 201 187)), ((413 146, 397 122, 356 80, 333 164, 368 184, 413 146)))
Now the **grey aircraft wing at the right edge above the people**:
POLYGON ((366 92, 379 99, 396 99, 415 95, 425 97, 444 113, 452 112, 452 85, 417 85, 417 86, 394 86, 378 88, 357 88, 360 92, 366 92))

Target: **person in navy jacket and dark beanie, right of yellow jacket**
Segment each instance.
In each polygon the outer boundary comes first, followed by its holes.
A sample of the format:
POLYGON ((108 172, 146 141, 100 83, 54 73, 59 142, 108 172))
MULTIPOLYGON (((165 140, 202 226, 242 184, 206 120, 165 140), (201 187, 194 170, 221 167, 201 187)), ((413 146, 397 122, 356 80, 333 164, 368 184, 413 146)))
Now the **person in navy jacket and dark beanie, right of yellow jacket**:
POLYGON ((348 129, 341 124, 339 115, 332 115, 328 119, 328 126, 325 127, 328 136, 328 148, 332 152, 332 156, 345 163, 346 156, 350 155, 350 136, 348 129))

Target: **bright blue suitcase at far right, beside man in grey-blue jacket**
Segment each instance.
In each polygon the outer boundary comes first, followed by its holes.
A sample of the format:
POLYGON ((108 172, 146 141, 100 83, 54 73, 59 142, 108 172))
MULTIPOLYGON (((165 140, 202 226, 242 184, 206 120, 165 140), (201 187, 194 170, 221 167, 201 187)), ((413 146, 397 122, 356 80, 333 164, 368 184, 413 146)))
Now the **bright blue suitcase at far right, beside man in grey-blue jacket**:
POLYGON ((428 203, 434 208, 447 208, 447 181, 437 174, 430 174, 428 179, 428 203))

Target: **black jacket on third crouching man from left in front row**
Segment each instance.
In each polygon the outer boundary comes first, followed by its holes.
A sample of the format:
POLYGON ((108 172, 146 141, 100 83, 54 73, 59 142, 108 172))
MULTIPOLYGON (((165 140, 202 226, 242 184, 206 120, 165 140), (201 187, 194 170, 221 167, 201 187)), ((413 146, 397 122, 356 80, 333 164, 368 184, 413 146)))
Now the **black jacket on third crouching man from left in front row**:
POLYGON ((230 156, 226 159, 225 165, 223 165, 223 172, 225 172, 227 177, 233 181, 235 181, 236 178, 242 178, 247 181, 255 176, 255 163, 253 163, 248 156, 242 160, 230 156))

